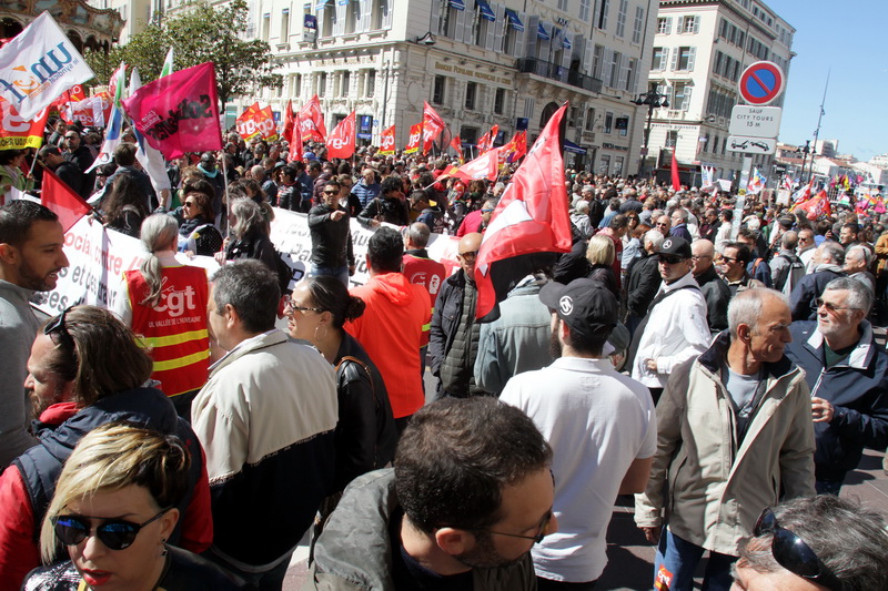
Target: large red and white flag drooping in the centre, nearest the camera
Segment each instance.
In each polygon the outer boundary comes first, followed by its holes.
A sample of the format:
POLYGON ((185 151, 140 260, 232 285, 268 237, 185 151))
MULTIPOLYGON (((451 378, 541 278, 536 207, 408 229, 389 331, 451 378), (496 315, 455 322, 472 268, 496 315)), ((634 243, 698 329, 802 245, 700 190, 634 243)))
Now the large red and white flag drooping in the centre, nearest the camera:
POLYGON ((549 119, 503 193, 475 264, 478 318, 493 312, 514 281, 571 249, 561 124, 567 103, 549 119))

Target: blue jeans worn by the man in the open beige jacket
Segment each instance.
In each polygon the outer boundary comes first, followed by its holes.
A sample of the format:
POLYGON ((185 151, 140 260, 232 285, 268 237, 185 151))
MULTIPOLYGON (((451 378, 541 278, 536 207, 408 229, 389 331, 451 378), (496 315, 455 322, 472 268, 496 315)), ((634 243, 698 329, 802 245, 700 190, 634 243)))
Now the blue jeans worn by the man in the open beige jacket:
MULTIPOLYGON (((660 567, 663 567, 665 572, 662 577, 670 579, 669 591, 690 591, 694 589, 694 571, 697 570, 697 564, 705 551, 703 547, 683 540, 664 527, 657 547, 657 557, 654 560, 654 580, 656 581, 657 575, 660 574, 660 567)), ((703 591, 728 591, 734 584, 730 567, 736 560, 737 557, 709 552, 700 589, 703 591)))

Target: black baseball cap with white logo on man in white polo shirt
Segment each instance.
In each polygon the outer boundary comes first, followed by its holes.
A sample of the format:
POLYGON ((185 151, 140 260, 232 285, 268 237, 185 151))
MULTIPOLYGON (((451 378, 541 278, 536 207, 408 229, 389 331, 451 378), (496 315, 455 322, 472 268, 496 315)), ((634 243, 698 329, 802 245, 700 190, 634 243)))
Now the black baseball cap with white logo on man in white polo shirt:
POLYGON ((539 289, 539 300, 554 309, 572 330, 593 336, 617 324, 619 305, 609 289, 581 277, 567 285, 549 282, 539 289))

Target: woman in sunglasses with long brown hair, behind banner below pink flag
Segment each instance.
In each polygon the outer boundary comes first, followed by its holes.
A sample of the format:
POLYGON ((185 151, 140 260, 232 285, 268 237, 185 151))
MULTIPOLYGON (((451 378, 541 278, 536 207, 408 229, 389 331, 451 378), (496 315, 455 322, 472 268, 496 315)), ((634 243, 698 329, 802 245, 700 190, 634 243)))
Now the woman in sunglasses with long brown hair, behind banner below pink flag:
POLYGON ((213 256, 222 249, 222 233, 213 225, 215 190, 202 179, 188 181, 182 188, 182 206, 173 216, 179 220, 179 249, 213 256))

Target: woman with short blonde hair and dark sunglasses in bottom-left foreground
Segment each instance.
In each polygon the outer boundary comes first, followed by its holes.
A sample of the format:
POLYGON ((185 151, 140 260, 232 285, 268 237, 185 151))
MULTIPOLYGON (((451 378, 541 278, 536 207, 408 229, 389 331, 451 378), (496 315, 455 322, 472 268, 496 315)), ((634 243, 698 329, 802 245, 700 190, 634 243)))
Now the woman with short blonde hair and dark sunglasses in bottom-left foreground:
POLYGON ((181 440, 134 424, 83 437, 59 476, 40 532, 43 562, 28 591, 243 589, 205 559, 170 546, 188 493, 190 455, 181 440))

